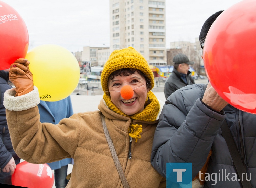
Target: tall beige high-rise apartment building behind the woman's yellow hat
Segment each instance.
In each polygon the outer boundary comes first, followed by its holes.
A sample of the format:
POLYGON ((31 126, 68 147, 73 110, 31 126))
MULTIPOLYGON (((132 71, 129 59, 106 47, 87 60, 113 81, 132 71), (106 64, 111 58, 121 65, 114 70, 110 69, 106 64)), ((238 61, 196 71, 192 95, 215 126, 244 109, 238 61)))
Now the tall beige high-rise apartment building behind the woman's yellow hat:
POLYGON ((150 65, 166 65, 165 0, 110 0, 110 52, 132 46, 150 65))

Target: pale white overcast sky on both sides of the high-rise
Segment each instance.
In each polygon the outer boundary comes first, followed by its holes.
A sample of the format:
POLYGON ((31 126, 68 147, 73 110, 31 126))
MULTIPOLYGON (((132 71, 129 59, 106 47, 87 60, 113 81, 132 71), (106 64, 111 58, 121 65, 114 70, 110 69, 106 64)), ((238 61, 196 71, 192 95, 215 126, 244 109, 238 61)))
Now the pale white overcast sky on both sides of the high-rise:
MULTIPOLYGON (((174 41, 195 42, 209 16, 240 1, 166 0, 166 48, 174 41)), ((0 0, 0 5, 1 2, 23 18, 29 50, 42 44, 57 44, 71 52, 82 51, 84 46, 110 45, 109 0, 0 0)))

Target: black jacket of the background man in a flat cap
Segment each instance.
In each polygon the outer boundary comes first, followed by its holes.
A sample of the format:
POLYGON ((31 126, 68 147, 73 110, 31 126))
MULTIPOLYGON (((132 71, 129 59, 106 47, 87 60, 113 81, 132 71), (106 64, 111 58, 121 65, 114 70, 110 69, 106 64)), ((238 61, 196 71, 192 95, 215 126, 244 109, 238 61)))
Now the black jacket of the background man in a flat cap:
POLYGON ((194 79, 190 75, 190 71, 188 71, 186 75, 187 84, 181 79, 181 74, 177 71, 177 69, 173 69, 172 74, 166 80, 164 84, 164 95, 167 99, 174 91, 185 87, 187 85, 195 84, 194 79))

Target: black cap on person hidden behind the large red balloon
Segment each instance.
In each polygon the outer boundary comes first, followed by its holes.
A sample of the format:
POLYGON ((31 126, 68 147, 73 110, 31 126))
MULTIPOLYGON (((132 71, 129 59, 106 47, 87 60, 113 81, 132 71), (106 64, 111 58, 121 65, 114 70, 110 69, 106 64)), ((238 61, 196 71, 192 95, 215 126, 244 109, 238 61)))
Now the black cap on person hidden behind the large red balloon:
POLYGON ((211 15, 204 23, 204 25, 202 26, 200 35, 199 35, 199 41, 200 41, 200 45, 201 48, 203 49, 204 47, 204 43, 205 43, 205 38, 206 35, 211 27, 211 25, 213 24, 213 22, 216 20, 216 18, 218 18, 218 16, 223 12, 224 10, 218 11, 216 13, 214 13, 213 15, 211 15))

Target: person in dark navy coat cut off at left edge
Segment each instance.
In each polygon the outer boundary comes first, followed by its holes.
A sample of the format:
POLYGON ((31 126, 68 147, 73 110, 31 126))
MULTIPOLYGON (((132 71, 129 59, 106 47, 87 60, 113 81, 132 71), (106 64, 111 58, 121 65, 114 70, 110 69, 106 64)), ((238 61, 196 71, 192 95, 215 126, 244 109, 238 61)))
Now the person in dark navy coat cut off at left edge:
POLYGON ((11 89, 8 84, 9 72, 0 71, 0 183, 12 185, 11 177, 15 171, 16 165, 20 162, 20 158, 14 152, 9 129, 6 122, 5 107, 3 105, 4 92, 11 89))

